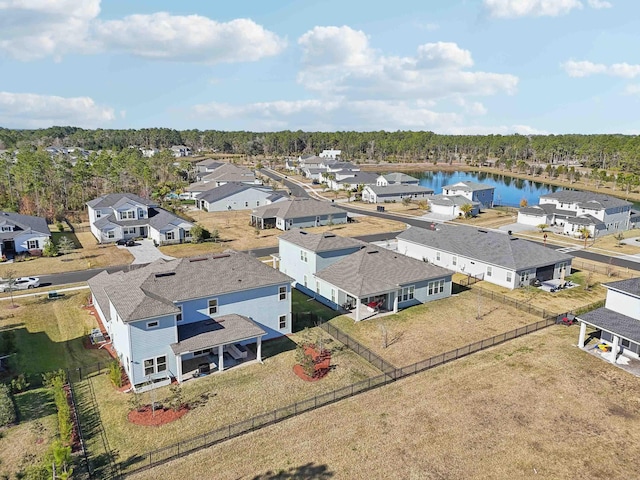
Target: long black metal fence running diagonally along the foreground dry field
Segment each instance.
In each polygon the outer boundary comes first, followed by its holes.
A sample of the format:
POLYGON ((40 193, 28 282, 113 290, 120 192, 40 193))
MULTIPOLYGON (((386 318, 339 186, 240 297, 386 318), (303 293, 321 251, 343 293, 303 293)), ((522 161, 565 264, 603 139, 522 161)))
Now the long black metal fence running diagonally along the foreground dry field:
MULTIPOLYGON (((409 375, 414 375, 416 373, 429 370, 431 368, 465 357, 480 350, 493 347, 508 340, 512 340, 514 338, 536 332, 550 325, 554 325, 556 323, 556 317, 557 315, 554 314, 553 316, 549 316, 543 320, 540 320, 539 322, 526 325, 515 330, 502 333, 500 335, 495 335, 491 338, 486 338, 484 340, 471 343, 461 348, 456 348, 455 350, 436 355, 412 365, 408 365, 402 368, 394 368, 393 370, 385 372, 376 377, 372 377, 367 380, 363 380, 361 382, 354 383, 352 385, 339 388, 328 393, 324 393, 322 395, 316 395, 314 397, 292 403, 271 412, 251 417, 239 423, 234 423, 217 428, 202 435, 198 435, 196 437, 192 437, 174 443, 172 445, 168 445, 164 448, 136 455, 132 458, 120 462, 120 472, 126 475, 132 474, 134 472, 139 472, 169 462, 171 460, 175 460, 177 458, 210 447, 212 445, 216 445, 226 440, 239 437, 246 433, 267 427, 269 425, 273 425, 275 423, 279 423, 283 420, 294 417, 296 415, 300 415, 310 410, 315 410, 325 405, 335 403, 339 400, 349 398, 363 392, 367 392, 383 385, 387 385, 409 375)), ((364 350, 361 351, 364 352, 364 350)), ((373 360, 372 363, 374 363, 376 361, 375 357, 371 358, 373 360)))

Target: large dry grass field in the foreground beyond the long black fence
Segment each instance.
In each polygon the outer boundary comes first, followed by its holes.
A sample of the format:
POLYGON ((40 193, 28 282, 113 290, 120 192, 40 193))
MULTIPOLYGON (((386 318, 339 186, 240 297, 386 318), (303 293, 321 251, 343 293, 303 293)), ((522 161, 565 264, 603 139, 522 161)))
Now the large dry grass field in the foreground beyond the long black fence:
POLYGON ((550 327, 132 478, 640 478, 640 382, 550 327))

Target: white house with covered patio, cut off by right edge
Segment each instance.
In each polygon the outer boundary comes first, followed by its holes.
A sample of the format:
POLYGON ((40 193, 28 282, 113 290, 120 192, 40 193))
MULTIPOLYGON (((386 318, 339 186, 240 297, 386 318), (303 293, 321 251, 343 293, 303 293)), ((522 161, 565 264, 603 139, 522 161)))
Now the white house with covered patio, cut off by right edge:
POLYGON ((608 344, 612 363, 620 357, 640 358, 640 278, 603 283, 607 288, 604 307, 579 315, 578 347, 585 348, 587 326, 597 329, 600 342, 608 344))

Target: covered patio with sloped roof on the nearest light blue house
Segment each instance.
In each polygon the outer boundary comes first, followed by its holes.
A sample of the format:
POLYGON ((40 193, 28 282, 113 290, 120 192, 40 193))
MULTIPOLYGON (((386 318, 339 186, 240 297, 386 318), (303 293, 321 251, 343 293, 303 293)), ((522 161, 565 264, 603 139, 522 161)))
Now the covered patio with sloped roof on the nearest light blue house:
POLYGON ((178 326, 178 342, 171 344, 176 355, 176 380, 199 376, 200 367, 206 370, 225 370, 231 364, 257 360, 262 362, 262 337, 265 332, 253 320, 243 315, 224 315, 200 322, 178 326), (256 343, 255 355, 246 348, 256 343))

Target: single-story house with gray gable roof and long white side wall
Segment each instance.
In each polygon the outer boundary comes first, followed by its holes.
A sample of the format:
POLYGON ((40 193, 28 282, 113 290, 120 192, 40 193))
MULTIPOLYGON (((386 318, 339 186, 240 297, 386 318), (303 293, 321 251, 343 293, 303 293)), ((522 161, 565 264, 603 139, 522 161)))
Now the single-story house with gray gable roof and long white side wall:
POLYGON ((226 212, 257 208, 286 199, 269 187, 230 182, 198 195, 196 207, 205 212, 226 212))

